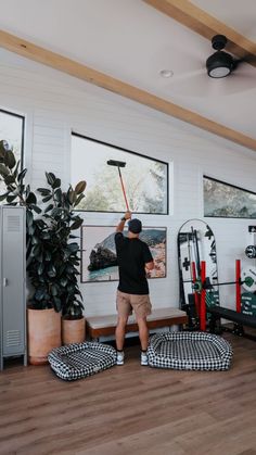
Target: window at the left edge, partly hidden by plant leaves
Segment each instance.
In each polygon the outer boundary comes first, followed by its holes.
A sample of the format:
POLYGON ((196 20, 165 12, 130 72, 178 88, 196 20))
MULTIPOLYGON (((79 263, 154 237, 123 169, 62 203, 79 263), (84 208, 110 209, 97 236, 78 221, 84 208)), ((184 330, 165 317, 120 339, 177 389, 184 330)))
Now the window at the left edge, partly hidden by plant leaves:
MULTIPOLYGON (((13 114, 0 109, 0 140, 5 140, 13 148, 16 160, 21 161, 23 167, 23 149, 24 149, 24 123, 22 115, 13 114)), ((4 185, 0 181, 0 193, 5 190, 4 185)))

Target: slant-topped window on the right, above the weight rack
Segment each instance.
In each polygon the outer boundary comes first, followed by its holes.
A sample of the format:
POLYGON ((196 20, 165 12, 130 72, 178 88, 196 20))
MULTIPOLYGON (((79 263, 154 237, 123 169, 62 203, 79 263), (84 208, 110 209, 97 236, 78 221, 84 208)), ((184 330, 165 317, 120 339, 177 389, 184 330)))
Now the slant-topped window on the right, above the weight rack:
POLYGON ((256 218, 256 193, 204 176, 204 216, 256 218))

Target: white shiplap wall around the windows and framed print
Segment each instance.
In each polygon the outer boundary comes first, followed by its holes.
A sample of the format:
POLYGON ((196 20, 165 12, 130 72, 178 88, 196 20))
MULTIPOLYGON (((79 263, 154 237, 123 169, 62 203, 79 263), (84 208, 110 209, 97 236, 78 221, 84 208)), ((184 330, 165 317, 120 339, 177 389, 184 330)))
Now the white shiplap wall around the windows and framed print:
MULTIPOLYGON (((162 113, 0 50, 0 106, 26 115, 26 166, 33 188, 44 170, 69 182, 71 131, 172 163, 170 215, 141 216, 146 226, 167 226, 165 279, 151 280, 155 307, 178 306, 177 233, 189 218, 203 218, 203 174, 256 191, 256 154, 162 113)), ((170 167, 171 175, 171 167, 170 167)), ((86 179, 86 169, 85 169, 86 179)), ((85 213, 85 224, 112 225, 119 214, 85 213)), ((217 240, 220 280, 233 280, 234 260, 251 242, 246 219, 208 219, 217 240)), ((116 282, 81 285, 86 314, 115 312, 116 282)), ((232 288, 221 303, 234 306, 232 288)))

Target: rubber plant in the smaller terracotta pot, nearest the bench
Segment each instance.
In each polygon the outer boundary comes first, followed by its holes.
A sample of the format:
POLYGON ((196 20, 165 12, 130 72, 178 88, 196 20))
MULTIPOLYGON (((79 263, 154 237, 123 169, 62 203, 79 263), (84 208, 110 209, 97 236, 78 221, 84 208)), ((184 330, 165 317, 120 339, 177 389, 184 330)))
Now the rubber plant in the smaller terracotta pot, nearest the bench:
POLYGON ((52 173, 46 173, 49 188, 39 188, 42 202, 49 205, 43 217, 50 220, 54 261, 53 291, 62 307, 62 341, 64 344, 85 341, 86 323, 82 295, 78 286, 80 251, 73 231, 80 228, 82 218, 74 212, 85 197, 86 181, 79 181, 67 191, 52 173))

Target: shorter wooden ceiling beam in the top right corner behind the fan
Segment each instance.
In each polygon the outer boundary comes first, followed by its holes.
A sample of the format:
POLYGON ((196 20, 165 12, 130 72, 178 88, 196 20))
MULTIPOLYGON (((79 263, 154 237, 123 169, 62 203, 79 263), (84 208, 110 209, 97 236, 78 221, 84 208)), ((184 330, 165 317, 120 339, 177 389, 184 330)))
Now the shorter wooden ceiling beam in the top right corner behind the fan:
MULTIPOLYGON (((226 50, 256 66, 256 43, 233 28, 207 14, 189 0, 143 0, 156 10, 190 28, 204 38, 212 40, 215 35, 228 38, 226 50)), ((245 7, 246 8, 246 7, 245 7)))

